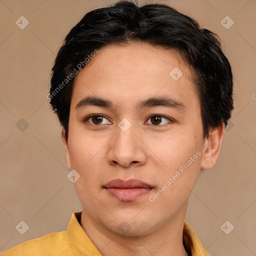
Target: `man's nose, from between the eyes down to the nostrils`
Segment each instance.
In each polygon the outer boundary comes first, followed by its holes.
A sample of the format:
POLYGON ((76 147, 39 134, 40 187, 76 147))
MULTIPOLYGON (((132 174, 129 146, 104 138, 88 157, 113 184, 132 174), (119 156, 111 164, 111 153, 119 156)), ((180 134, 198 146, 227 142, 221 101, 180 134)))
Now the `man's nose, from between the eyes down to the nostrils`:
POLYGON ((126 131, 116 128, 116 135, 108 142, 107 160, 111 165, 123 167, 143 165, 146 161, 146 146, 133 125, 126 131))

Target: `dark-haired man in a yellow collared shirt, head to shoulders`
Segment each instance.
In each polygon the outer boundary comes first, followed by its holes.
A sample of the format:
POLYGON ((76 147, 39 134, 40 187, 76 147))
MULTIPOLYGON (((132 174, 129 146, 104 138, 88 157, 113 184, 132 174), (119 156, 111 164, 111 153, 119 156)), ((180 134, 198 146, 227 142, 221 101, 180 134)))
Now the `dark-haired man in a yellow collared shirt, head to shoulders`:
POLYGON ((167 5, 88 12, 52 68, 50 104, 82 211, 7 255, 209 255, 184 220, 233 109, 217 36, 167 5))

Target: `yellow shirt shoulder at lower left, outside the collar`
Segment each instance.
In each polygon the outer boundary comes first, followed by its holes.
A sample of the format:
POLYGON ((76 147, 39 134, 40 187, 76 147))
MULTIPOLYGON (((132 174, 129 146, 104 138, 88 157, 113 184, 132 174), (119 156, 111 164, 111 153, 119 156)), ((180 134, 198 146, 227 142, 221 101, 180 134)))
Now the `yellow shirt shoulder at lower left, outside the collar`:
POLYGON ((53 256, 58 255, 66 247, 68 247, 67 231, 61 231, 24 241, 2 252, 1 256, 53 256))

